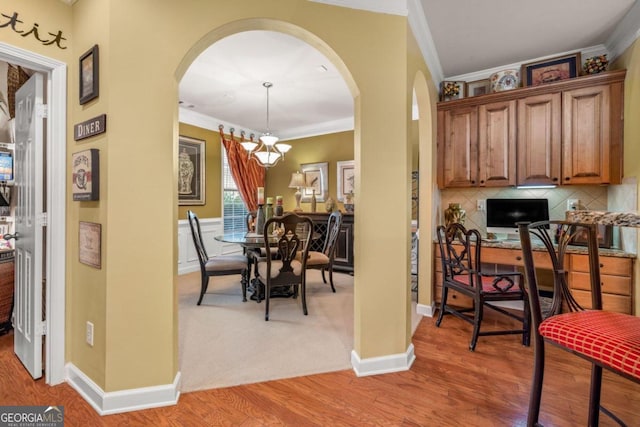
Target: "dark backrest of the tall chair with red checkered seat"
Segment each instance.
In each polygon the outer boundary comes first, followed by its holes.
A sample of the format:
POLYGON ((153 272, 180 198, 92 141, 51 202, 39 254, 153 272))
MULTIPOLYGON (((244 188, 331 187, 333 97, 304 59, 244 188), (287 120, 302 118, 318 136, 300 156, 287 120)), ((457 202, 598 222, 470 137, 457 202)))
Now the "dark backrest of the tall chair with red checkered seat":
POLYGON ((589 276, 591 282, 592 308, 602 309, 602 295, 600 284, 600 261, 598 254, 597 225, 571 223, 566 221, 540 221, 518 224, 520 242, 522 244, 522 259, 529 302, 531 306, 532 326, 537 328, 543 318, 558 314, 566 307, 569 311, 583 310, 582 306, 571 295, 567 282, 567 249, 577 238, 586 240, 589 255, 589 276), (551 235, 553 234, 553 238, 551 235), (544 313, 541 309, 539 284, 536 276, 536 265, 533 256, 533 244, 544 247, 549 255, 553 270, 553 300, 551 307, 544 313))

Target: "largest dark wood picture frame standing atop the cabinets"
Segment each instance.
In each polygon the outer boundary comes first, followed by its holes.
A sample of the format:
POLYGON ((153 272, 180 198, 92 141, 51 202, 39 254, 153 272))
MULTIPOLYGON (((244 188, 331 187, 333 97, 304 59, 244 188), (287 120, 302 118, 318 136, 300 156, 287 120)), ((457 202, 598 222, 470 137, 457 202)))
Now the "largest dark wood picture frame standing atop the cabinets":
POLYGON ((526 87, 572 79, 581 74, 581 69, 580 52, 575 52, 544 61, 522 64, 520 74, 522 85, 526 87))

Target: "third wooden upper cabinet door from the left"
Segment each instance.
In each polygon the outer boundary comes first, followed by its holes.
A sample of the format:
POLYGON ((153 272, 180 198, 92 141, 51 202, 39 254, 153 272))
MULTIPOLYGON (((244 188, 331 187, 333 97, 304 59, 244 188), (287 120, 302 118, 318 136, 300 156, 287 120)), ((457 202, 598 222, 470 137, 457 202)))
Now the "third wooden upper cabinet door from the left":
POLYGON ((518 100, 518 185, 560 184, 560 93, 518 100))

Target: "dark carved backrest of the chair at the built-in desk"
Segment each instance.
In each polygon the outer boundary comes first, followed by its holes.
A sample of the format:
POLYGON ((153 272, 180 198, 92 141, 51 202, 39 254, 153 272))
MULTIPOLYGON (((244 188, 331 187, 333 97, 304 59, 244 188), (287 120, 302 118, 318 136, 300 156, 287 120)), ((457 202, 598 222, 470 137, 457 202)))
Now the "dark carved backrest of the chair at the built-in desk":
POLYGON ((482 289, 478 276, 480 272, 480 232, 467 230, 462 224, 454 222, 447 227, 438 226, 438 246, 442 259, 442 279, 455 280, 456 276, 468 276, 469 286, 482 289))

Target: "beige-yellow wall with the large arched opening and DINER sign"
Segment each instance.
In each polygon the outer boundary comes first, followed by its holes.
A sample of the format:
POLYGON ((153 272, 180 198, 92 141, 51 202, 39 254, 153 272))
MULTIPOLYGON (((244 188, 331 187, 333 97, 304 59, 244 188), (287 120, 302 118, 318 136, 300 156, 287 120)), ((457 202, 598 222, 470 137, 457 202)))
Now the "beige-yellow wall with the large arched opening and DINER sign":
POLYGON ((68 64, 68 134, 73 123, 107 115, 105 134, 83 143, 67 139, 67 159, 80 148, 100 149, 102 175, 100 201, 67 199, 67 362, 107 392, 173 382, 175 236, 184 214, 177 206, 178 83, 210 44, 251 29, 306 40, 347 81, 355 104, 356 131, 348 139, 359 165, 356 204, 367 212, 355 224, 355 350, 365 359, 406 351, 407 76, 414 73, 407 67, 405 18, 299 0, 3 3, 3 12, 13 10, 68 38, 61 51, 0 29, 3 41, 68 64), (80 106, 77 61, 94 44, 100 46, 100 97, 80 106), (380 209, 381 201, 396 210, 380 209), (81 220, 102 224, 101 269, 77 261, 81 220), (390 254, 384 266, 373 261, 381 253, 390 254), (87 320, 95 325, 93 347, 84 342, 87 320))

